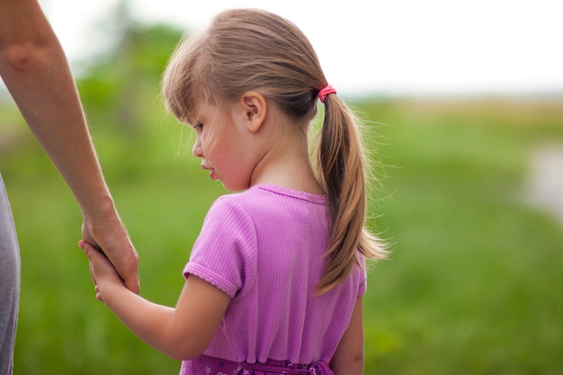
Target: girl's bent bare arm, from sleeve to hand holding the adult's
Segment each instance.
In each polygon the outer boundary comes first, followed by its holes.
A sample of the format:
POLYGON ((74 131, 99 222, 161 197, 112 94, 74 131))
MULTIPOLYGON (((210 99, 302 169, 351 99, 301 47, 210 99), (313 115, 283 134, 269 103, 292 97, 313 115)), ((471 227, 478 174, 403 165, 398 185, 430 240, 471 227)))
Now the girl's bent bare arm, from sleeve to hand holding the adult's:
POLYGON ((226 293, 191 275, 175 308, 157 305, 125 288, 94 247, 84 240, 79 246, 90 260, 97 298, 141 340, 177 360, 195 358, 210 344, 228 307, 226 293))

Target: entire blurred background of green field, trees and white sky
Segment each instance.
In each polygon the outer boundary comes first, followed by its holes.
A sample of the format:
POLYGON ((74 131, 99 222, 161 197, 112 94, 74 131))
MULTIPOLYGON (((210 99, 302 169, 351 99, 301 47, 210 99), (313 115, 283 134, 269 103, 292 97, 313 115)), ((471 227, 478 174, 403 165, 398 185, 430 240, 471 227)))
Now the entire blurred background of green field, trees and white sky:
MULTIPOLYGON (((219 183, 159 96, 184 32, 229 7, 295 22, 366 124, 366 374, 563 373, 563 23, 558 1, 45 0, 139 255, 141 294, 174 305, 219 183), (387 4, 391 3, 391 4, 387 4)), ((22 252, 14 374, 170 374, 94 299, 81 216, 4 87, 0 171, 22 252)))

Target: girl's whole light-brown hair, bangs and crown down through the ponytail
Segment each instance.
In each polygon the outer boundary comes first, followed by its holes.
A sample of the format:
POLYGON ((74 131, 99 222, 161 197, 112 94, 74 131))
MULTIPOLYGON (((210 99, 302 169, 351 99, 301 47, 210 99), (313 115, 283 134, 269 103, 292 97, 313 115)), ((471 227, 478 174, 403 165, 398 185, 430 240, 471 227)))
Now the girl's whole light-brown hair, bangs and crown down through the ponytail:
MULTIPOLYGON (((307 128, 326 85, 315 50, 292 22, 262 10, 237 9, 219 13, 206 31, 180 42, 165 69, 163 94, 175 117, 193 123, 202 103, 225 109, 255 91, 307 128)), ((358 251, 368 258, 385 254, 380 239, 365 228, 367 167, 357 123, 337 95, 328 95, 325 106, 316 165, 331 234, 318 293, 332 289, 361 263, 358 251)))

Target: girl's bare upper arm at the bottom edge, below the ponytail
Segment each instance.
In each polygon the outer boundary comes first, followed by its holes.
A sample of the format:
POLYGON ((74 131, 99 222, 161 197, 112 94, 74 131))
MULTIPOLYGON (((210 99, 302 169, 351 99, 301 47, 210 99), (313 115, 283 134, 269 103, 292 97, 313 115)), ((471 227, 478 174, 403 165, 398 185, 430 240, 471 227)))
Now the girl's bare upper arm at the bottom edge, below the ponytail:
POLYGON ((358 297, 353 308, 352 320, 330 361, 335 375, 362 375, 363 356, 363 301, 358 297))

